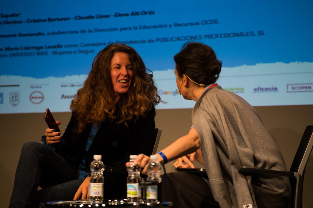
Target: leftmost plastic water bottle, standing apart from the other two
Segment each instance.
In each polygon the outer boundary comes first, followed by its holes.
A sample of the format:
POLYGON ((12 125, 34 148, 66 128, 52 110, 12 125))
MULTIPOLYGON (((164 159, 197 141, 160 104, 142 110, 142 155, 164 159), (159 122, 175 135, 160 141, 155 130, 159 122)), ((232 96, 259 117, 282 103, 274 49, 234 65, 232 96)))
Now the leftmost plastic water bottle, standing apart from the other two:
POLYGON ((102 202, 104 164, 101 161, 101 155, 94 155, 94 161, 90 164, 90 171, 89 199, 92 203, 102 202))

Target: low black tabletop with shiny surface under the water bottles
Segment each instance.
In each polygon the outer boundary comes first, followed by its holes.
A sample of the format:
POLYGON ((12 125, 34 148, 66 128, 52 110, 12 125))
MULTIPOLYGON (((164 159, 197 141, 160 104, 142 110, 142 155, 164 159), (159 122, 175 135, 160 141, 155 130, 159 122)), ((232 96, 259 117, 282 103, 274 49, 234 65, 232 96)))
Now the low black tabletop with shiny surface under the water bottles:
POLYGON ((46 207, 171 207, 172 202, 163 201, 162 203, 129 203, 126 199, 107 200, 104 199, 102 203, 92 204, 89 200, 71 200, 71 201, 50 201, 40 204, 40 208, 46 207))

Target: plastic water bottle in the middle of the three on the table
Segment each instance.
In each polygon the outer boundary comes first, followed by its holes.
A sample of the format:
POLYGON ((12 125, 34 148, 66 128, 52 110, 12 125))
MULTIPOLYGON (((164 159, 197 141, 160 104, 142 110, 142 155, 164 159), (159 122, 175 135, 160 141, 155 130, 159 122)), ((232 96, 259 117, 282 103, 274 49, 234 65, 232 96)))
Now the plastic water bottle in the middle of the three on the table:
POLYGON ((131 165, 127 167, 128 177, 127 177, 127 200, 131 203, 140 203, 141 197, 141 182, 140 177, 140 166, 135 165, 134 162, 137 158, 137 155, 129 156, 131 165))

